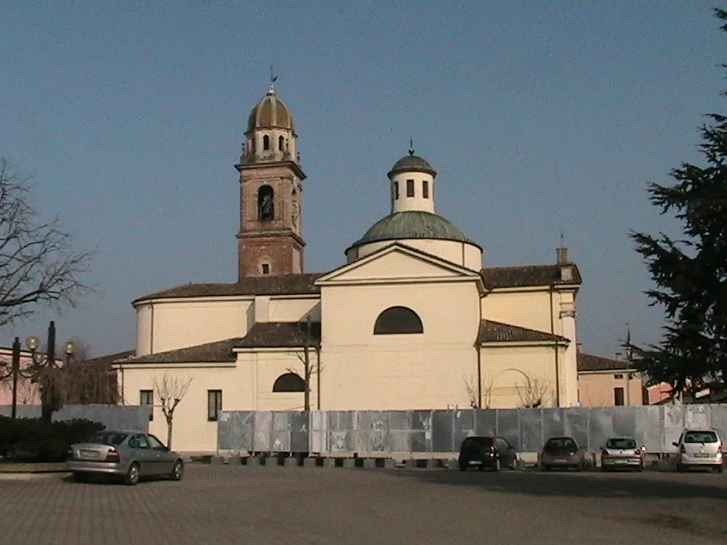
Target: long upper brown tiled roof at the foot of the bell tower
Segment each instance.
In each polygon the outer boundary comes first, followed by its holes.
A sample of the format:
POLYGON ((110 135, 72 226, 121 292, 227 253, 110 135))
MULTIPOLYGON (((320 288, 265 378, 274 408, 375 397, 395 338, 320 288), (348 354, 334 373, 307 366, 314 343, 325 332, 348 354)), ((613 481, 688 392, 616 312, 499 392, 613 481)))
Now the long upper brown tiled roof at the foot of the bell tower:
POLYGON ((234 295, 303 295, 318 294, 321 288, 316 279, 322 273, 280 276, 250 276, 235 283, 184 284, 163 291, 157 291, 134 300, 171 299, 174 297, 209 297, 234 295))

